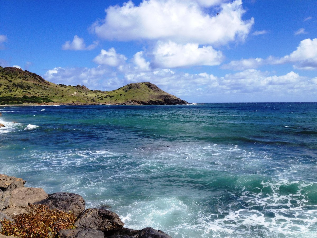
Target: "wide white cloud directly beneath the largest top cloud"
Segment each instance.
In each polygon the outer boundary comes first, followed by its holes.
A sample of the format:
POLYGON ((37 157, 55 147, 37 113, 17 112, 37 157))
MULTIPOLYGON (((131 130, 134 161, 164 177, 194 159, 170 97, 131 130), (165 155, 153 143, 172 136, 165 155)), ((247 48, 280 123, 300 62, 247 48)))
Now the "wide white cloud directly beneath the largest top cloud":
POLYGON ((154 67, 183 67, 195 65, 219 65, 223 60, 221 51, 212 46, 199 48, 198 44, 180 45, 174 42, 158 42, 153 50, 154 67))

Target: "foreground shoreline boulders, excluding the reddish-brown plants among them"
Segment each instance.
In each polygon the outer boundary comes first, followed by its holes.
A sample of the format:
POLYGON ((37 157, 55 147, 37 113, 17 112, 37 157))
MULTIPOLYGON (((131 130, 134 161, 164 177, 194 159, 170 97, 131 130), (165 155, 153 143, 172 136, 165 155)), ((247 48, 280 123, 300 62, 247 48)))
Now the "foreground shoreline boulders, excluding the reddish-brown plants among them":
MULTIPOLYGON (((81 195, 64 192, 47 194, 42 188, 24 187, 25 182, 22 178, 0 174, 0 233, 3 221, 14 224, 16 216, 32 212, 32 204, 42 204, 49 209, 58 209, 76 217, 74 228, 58 231, 56 238, 171 238, 153 228, 124 228, 119 215, 107 209, 85 209, 85 201, 81 195)), ((0 235, 1 237, 12 236, 0 235)))

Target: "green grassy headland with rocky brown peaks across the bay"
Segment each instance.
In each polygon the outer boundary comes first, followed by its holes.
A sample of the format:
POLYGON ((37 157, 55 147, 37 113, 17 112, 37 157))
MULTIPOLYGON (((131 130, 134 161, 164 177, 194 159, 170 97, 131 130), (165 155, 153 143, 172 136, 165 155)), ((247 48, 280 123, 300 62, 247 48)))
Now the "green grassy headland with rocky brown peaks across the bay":
POLYGON ((81 85, 67 86, 51 83, 27 70, 0 66, 0 104, 26 103, 40 105, 188 104, 149 82, 130 83, 113 91, 90 90, 81 85))

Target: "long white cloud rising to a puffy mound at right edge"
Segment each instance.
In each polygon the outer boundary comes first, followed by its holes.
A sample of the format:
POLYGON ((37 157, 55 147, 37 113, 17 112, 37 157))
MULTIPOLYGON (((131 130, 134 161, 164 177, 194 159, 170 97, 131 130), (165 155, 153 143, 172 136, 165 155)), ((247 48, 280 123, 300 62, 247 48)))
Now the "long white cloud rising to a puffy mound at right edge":
POLYGON ((231 61, 221 66, 222 69, 244 70, 256 69, 265 64, 294 63, 295 69, 313 70, 317 69, 317 38, 302 40, 291 54, 278 58, 269 56, 267 59, 249 58, 231 61))

